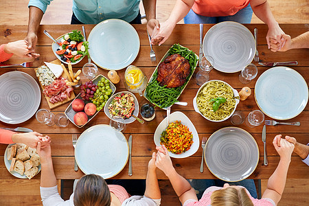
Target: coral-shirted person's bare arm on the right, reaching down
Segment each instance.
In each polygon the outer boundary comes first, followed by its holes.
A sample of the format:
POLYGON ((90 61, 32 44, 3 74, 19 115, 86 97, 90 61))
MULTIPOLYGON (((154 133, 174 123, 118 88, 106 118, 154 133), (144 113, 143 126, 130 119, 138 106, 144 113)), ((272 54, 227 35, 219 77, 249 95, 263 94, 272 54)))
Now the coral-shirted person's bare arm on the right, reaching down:
POLYGON ((271 38, 275 39, 275 41, 279 43, 280 47, 282 47, 282 45, 284 45, 284 41, 282 41, 284 31, 282 31, 282 29, 279 27, 279 23, 275 21, 268 1, 250 0, 250 5, 254 14, 268 26, 268 32, 266 34, 268 49, 271 49, 271 38))

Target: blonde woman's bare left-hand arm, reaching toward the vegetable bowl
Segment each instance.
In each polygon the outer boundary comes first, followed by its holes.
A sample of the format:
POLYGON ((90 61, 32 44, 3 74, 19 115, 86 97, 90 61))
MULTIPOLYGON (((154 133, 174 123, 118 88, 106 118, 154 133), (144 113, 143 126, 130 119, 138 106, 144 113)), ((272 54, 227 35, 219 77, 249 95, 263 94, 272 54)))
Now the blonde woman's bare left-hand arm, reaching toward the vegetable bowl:
POLYGON ((179 196, 181 203, 183 204, 189 199, 197 201, 196 193, 190 183, 184 179, 183 176, 178 174, 173 167, 170 156, 168 155, 168 150, 165 146, 157 147, 157 150, 156 166, 168 176, 168 179, 170 179, 170 183, 172 184, 177 196, 179 196))

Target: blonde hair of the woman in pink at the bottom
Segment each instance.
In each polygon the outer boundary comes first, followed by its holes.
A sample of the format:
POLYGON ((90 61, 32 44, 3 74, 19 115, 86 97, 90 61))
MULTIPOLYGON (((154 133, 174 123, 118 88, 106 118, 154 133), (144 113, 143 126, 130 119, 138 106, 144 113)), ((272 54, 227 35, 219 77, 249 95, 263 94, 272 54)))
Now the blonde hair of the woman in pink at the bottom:
POLYGON ((237 190, 227 187, 214 191, 211 196, 211 206, 253 206, 249 195, 244 188, 237 190))

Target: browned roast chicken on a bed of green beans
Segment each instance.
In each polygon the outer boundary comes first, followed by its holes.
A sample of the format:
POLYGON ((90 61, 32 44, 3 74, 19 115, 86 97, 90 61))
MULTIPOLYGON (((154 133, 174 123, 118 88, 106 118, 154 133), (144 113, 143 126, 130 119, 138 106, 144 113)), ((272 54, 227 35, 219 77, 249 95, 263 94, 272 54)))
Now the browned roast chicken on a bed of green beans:
POLYGON ((172 54, 159 64, 157 81, 166 88, 181 87, 189 75, 189 61, 179 54, 172 54))

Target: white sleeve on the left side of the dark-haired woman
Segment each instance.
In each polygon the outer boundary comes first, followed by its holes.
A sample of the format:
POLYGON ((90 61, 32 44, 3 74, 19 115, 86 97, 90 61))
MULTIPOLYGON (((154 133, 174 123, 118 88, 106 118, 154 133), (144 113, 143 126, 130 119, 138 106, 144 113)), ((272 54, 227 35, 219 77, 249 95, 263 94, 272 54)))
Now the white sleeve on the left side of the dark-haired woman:
POLYGON ((40 187, 41 198, 44 206, 65 206, 70 205, 69 201, 64 201, 58 193, 58 186, 40 187))

